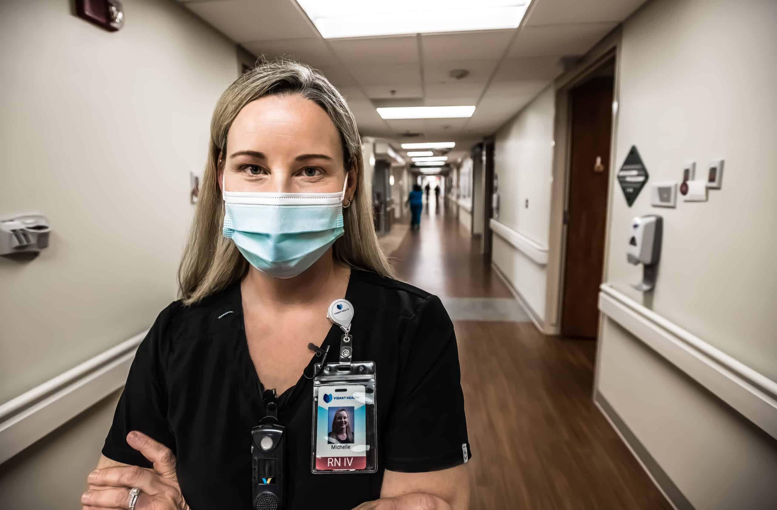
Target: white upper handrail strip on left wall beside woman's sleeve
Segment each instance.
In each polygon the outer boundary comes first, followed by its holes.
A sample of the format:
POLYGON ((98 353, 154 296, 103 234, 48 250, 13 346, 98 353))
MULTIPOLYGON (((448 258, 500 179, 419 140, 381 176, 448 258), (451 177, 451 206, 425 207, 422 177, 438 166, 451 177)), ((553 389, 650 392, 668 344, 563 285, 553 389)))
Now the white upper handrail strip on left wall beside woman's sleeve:
POLYGON ((148 330, 145 330, 144 332, 131 337, 129 340, 121 342, 117 346, 108 349, 102 354, 96 355, 94 358, 89 358, 81 365, 77 365, 67 372, 62 372, 59 376, 56 376, 53 379, 49 379, 43 384, 30 389, 30 391, 22 393, 16 398, 13 398, 8 402, 0 405, 0 422, 5 421, 8 417, 13 416, 20 409, 24 409, 25 407, 36 403, 38 400, 46 396, 48 393, 56 390, 57 388, 61 388, 62 386, 66 386, 71 382, 78 380, 92 370, 105 365, 106 362, 109 362, 111 359, 117 358, 120 355, 123 355, 124 353, 138 347, 138 344, 141 343, 146 333, 148 333, 148 330))

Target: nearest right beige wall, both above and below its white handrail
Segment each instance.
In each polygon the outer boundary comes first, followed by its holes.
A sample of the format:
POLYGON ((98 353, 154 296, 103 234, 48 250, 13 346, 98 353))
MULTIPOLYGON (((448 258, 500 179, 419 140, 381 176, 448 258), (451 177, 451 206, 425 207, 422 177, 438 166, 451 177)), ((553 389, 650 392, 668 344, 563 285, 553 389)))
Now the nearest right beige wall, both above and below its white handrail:
MULTIPOLYGON (((709 201, 632 208, 611 195, 606 279, 632 299, 777 379, 777 2, 650 2, 623 26, 615 169, 632 145, 650 183, 725 159, 709 201), (629 287, 629 220, 664 216, 657 288, 629 287)), ((695 508, 774 508, 775 441, 605 320, 598 389, 695 508)))

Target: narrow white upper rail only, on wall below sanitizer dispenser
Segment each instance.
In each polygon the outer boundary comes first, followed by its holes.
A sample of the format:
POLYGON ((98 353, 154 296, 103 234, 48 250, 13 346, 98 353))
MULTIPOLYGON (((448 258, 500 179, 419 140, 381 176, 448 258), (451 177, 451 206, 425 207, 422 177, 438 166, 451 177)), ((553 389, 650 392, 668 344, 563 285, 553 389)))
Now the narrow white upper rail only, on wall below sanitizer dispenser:
POLYGON ((629 296, 615 290, 615 288, 613 288, 612 285, 607 283, 602 284, 601 292, 604 292, 605 294, 610 295, 612 298, 622 303, 622 305, 629 307, 630 309, 636 311, 636 313, 639 313, 642 316, 645 316, 653 323, 656 323, 658 326, 664 328, 664 330, 667 330, 671 334, 674 334, 674 336, 681 339, 681 341, 684 341, 686 344, 692 346, 692 348, 694 348, 695 350, 702 352, 704 355, 708 356, 709 358, 713 358, 715 362, 719 363, 720 365, 723 365, 724 367, 726 367, 726 369, 729 369, 731 372, 736 373, 737 376, 740 376, 742 379, 744 379, 751 385, 757 387, 758 389, 761 389, 761 391, 766 393, 772 399, 777 400, 777 382, 772 381, 772 379, 769 379, 763 374, 756 372, 755 370, 751 369, 749 366, 745 365, 744 363, 737 361, 736 359, 732 358, 730 355, 727 355, 725 352, 720 351, 720 349, 717 349, 712 345, 708 344, 706 341, 703 341, 701 338, 688 333, 688 331, 682 329, 681 327, 678 327, 676 324, 672 323, 671 321, 664 319, 664 317, 658 315, 657 313, 653 312, 650 309, 647 309, 645 306, 640 305, 638 302, 629 298, 629 296))

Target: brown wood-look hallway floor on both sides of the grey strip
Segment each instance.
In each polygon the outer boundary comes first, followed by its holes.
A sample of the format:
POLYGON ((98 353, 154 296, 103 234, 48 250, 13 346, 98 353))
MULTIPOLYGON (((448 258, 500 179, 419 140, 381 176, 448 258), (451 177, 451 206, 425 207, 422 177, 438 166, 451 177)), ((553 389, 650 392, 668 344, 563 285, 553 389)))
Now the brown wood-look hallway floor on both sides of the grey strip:
MULTIPOLYGON (((449 211, 424 210, 393 253, 437 295, 507 297, 449 211)), ((592 341, 534 324, 455 321, 472 461, 472 510, 671 508, 594 407, 592 341)))

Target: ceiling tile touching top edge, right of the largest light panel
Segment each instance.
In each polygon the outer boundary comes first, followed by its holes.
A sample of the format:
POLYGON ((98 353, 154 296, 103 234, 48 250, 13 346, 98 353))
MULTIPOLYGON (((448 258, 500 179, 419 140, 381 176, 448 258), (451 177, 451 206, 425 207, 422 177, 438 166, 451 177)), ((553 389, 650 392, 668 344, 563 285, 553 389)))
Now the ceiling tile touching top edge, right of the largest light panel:
POLYGON ((529 13, 526 26, 621 22, 645 0, 542 0, 536 3, 529 13))

